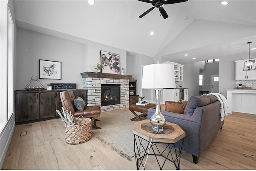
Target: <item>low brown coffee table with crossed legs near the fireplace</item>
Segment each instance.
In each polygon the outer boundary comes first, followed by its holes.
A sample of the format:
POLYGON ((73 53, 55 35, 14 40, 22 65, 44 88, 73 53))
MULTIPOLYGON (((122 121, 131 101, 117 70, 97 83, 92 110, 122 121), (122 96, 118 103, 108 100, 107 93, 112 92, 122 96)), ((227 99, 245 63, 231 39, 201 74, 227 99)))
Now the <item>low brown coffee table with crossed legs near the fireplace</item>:
POLYGON ((136 105, 136 104, 130 104, 129 110, 134 114, 134 118, 130 119, 133 121, 134 119, 138 119, 141 121, 140 117, 147 116, 148 109, 150 108, 156 108, 156 104, 149 103, 148 105, 142 106, 142 105, 136 105), (137 115, 134 111, 138 111, 142 113, 141 115, 137 115))

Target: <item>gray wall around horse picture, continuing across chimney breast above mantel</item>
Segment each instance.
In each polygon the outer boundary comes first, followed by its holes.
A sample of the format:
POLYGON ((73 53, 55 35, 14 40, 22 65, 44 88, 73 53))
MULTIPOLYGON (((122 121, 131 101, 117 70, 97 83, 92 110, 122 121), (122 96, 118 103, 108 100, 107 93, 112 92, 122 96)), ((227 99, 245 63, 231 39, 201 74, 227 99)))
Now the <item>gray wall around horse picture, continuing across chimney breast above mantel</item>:
POLYGON ((24 89, 32 76, 39 78, 39 59, 62 62, 62 79, 39 79, 44 87, 48 83, 76 83, 76 88, 81 89, 80 73, 96 72, 94 66, 100 64, 100 50, 119 54, 120 68, 126 74, 126 51, 111 46, 96 42, 82 44, 23 28, 17 29, 17 44, 15 89, 24 89))

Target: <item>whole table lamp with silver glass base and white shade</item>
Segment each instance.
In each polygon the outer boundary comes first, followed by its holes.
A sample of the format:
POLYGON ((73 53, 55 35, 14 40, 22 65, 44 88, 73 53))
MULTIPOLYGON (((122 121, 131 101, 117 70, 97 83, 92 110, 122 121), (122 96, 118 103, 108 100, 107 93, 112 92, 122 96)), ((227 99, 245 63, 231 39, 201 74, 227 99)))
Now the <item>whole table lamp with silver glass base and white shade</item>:
POLYGON ((160 111, 160 96, 162 88, 176 88, 174 66, 172 64, 151 64, 143 67, 142 88, 155 89, 156 111, 150 117, 154 131, 161 132, 166 123, 160 111))

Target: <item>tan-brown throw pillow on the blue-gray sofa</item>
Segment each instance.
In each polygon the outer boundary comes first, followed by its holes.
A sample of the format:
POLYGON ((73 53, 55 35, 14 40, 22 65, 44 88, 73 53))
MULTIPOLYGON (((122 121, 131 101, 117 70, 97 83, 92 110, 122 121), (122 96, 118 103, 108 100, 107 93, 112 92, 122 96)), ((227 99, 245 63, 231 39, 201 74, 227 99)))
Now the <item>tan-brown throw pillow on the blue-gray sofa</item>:
POLYGON ((173 113, 183 114, 186 105, 187 105, 187 101, 181 101, 181 102, 165 101, 165 110, 173 113))

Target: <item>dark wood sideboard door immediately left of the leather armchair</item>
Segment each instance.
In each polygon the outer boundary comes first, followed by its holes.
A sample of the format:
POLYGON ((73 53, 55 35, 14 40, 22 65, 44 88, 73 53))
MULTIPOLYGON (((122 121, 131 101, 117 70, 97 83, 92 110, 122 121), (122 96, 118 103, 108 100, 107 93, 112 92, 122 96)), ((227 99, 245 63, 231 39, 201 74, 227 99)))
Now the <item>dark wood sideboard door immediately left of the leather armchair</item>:
POLYGON ((58 114, 56 109, 60 110, 59 97, 57 92, 41 93, 40 118, 55 117, 58 114))

